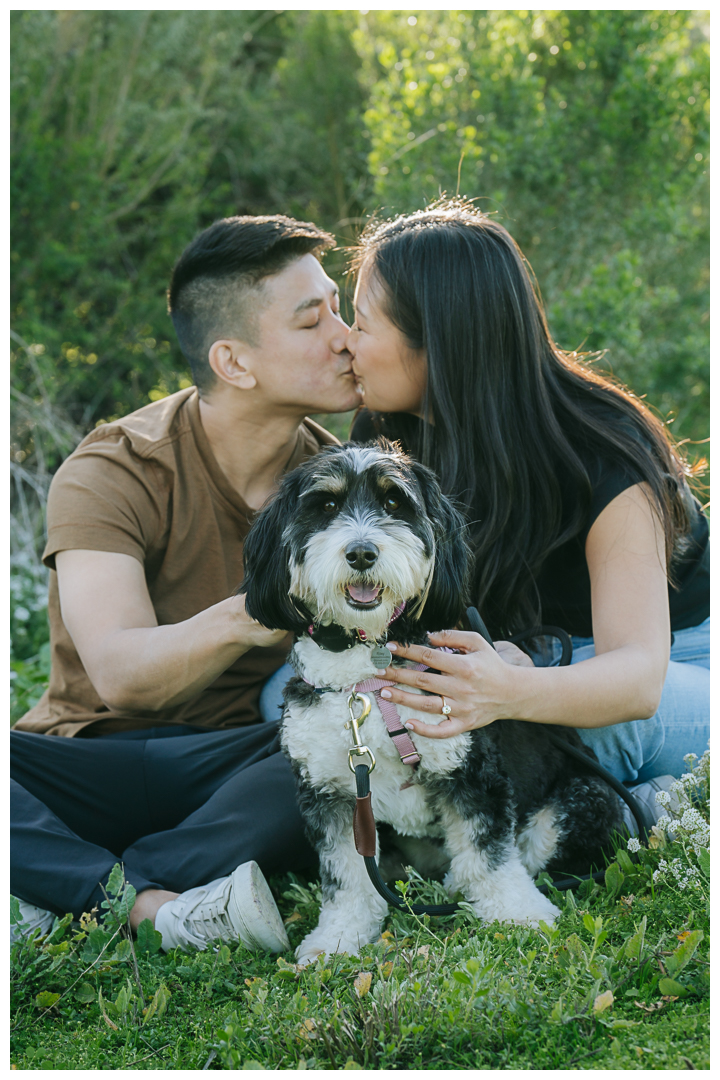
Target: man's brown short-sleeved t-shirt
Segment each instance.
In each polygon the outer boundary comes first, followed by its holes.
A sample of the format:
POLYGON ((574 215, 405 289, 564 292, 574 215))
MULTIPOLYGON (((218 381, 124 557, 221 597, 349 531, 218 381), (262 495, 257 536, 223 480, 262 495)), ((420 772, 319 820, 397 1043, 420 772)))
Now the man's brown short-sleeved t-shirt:
MULTIPOLYGON (((305 420, 288 469, 335 442, 305 420)), ((250 649, 182 705, 123 714, 100 701, 85 674, 63 623, 55 573, 55 554, 67 549, 132 555, 145 567, 158 623, 181 622, 235 591, 255 513, 213 456, 194 387, 87 435, 50 488, 43 562, 51 570, 52 674, 46 692, 16 729, 96 735, 162 724, 232 728, 257 721, 262 684, 284 662, 289 635, 279 645, 250 649)))

